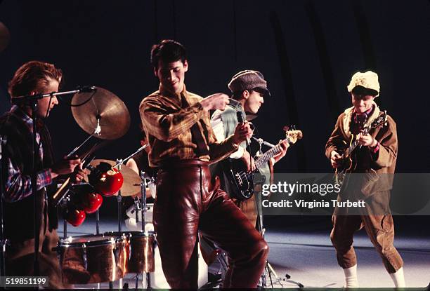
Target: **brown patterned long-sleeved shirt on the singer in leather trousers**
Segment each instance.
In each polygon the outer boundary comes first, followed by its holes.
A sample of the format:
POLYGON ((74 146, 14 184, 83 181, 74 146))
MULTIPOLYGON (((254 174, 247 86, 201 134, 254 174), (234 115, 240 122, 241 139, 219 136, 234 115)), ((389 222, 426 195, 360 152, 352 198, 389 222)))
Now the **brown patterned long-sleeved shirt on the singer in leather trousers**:
POLYGON ((170 93, 160 85, 159 90, 145 97, 140 105, 141 119, 151 151, 151 167, 162 165, 171 158, 188 160, 198 158, 215 163, 237 151, 233 135, 218 142, 211 128, 209 112, 205 111, 200 101, 202 97, 187 92, 185 86, 181 94, 170 93), (182 98, 189 106, 182 106, 182 98), (193 140, 190 128, 197 123, 209 155, 197 156, 197 144, 193 140))

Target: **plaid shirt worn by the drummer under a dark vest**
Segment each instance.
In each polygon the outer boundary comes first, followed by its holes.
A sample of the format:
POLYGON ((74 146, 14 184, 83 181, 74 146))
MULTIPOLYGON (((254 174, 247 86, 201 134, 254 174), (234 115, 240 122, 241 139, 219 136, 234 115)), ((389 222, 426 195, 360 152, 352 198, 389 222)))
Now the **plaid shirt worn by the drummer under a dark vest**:
MULTIPOLYGON (((29 130, 29 135, 33 133, 33 120, 25 114, 19 107, 13 105, 11 113, 24 121, 29 130)), ((39 145, 39 155, 44 158, 43 145, 40 142, 40 135, 36 133, 37 144, 39 145)), ((37 172, 37 190, 40 190, 52 183, 51 169, 44 169, 37 172)), ((4 198, 7 202, 20 201, 32 194, 31 175, 22 175, 17 165, 8 158, 8 177, 6 179, 4 198)))

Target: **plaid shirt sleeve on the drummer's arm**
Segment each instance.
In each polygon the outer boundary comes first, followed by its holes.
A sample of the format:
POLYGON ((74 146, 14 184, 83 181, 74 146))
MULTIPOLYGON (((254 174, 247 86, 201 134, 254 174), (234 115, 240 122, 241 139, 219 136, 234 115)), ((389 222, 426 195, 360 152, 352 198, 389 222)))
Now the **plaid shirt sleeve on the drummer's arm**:
MULTIPOLYGON (((52 184, 51 170, 45 169, 37 172, 37 190, 52 184)), ((8 158, 8 177, 4 198, 6 202, 20 201, 32 194, 32 177, 22 175, 8 158)))

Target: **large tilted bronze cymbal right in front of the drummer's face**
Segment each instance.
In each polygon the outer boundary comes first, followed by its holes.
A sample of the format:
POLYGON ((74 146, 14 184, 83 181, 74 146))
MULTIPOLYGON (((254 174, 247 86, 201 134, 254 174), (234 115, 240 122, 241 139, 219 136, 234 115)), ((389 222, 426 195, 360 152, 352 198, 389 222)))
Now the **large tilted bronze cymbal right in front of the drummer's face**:
POLYGON ((103 140, 115 140, 129 130, 129 109, 117 95, 106 89, 96 87, 93 92, 77 93, 72 98, 72 105, 74 120, 89 135, 94 134, 98 119, 101 130, 94 136, 103 140))

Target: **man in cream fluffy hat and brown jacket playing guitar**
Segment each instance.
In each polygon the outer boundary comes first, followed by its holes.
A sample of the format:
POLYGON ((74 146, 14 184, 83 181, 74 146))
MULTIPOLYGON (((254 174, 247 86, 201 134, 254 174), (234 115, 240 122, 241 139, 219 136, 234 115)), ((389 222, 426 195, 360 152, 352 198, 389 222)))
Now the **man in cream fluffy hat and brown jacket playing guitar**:
POLYGON ((355 215, 351 215, 352 209, 335 208, 330 238, 336 249, 337 262, 344 269, 345 287, 358 287, 357 259, 352 244, 353 234, 363 227, 396 287, 405 287, 403 260, 393 246, 394 225, 389 209, 392 180, 383 183, 392 177, 396 168, 396 123, 388 116, 385 126, 364 133, 381 112, 374 102, 380 89, 376 73, 357 72, 347 88, 353 106, 339 115, 325 146, 325 155, 333 168, 339 168, 344 163, 341 151, 345 144, 349 144, 351 138, 358 141, 359 147, 351 155, 352 163, 356 165, 351 172, 360 174, 350 176, 351 182, 346 191, 339 194, 338 201, 353 198, 365 201, 365 207, 355 215), (366 180, 367 177, 378 177, 379 180, 372 180, 372 184, 366 180), (353 183, 357 181, 359 184, 353 183), (369 185, 372 187, 367 187, 369 185))

